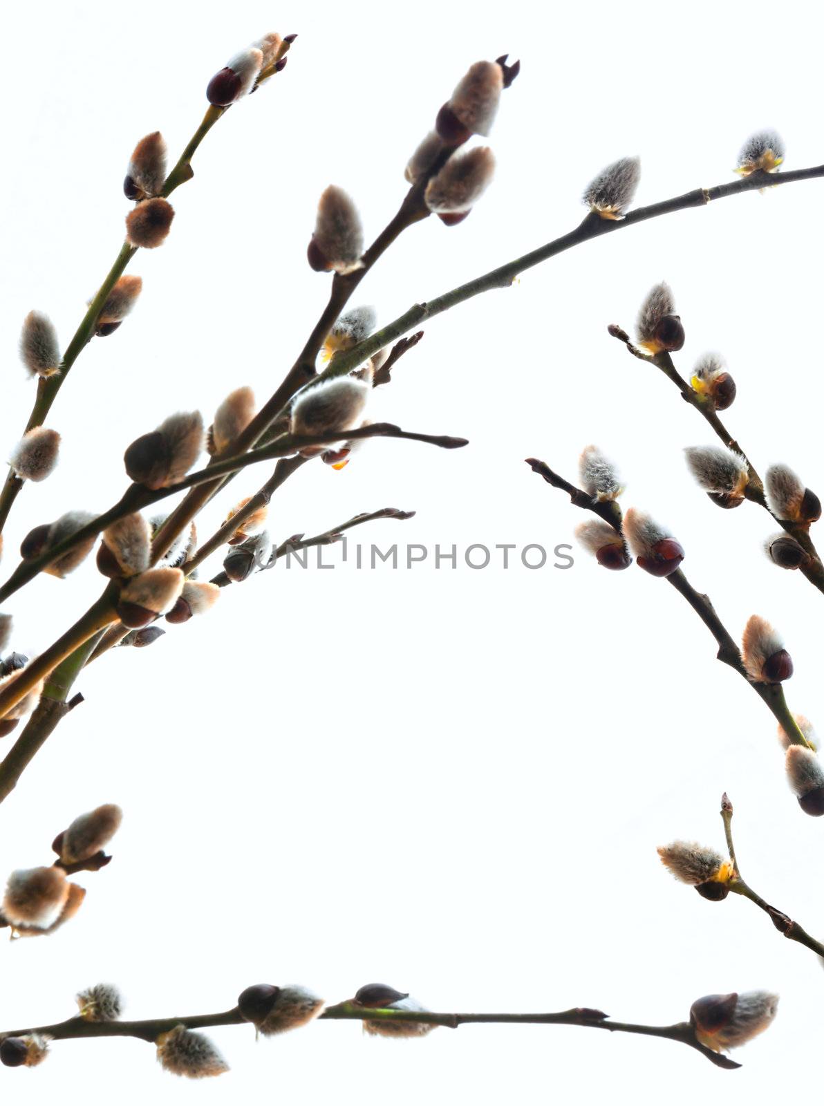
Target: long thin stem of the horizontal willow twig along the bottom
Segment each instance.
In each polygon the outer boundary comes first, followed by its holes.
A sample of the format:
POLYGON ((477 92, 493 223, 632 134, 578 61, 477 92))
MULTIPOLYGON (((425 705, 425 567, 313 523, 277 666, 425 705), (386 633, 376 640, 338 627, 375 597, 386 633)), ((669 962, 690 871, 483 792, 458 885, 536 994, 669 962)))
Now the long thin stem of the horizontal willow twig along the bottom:
MULTIPOLYGON (((550 1014, 441 1014, 430 1011, 409 1011, 389 1009, 368 1009, 354 1002, 342 1002, 336 1006, 327 1006, 317 1016, 317 1021, 375 1021, 375 1022, 417 1022, 425 1025, 442 1025, 457 1029, 459 1025, 581 1025, 584 1029, 607 1030, 611 1033, 634 1033, 642 1036, 663 1037, 666 1041, 677 1041, 700 1052, 717 1067, 733 1070, 740 1067, 734 1060, 729 1060, 721 1053, 712 1052, 696 1040, 689 1022, 677 1022, 675 1025, 636 1025, 632 1022, 612 1022, 599 1010, 584 1006, 572 1010, 561 1010, 550 1014)), ((191 1014, 182 1018, 156 1018, 138 1022, 88 1022, 83 1018, 70 1018, 64 1022, 51 1025, 35 1025, 22 1030, 9 1030, 0 1033, 0 1040, 7 1036, 25 1036, 39 1033, 54 1041, 69 1041, 79 1037, 115 1037, 133 1036, 154 1044, 163 1033, 168 1033, 177 1025, 190 1030, 213 1029, 221 1025, 249 1025, 237 1006, 218 1014, 191 1014)))

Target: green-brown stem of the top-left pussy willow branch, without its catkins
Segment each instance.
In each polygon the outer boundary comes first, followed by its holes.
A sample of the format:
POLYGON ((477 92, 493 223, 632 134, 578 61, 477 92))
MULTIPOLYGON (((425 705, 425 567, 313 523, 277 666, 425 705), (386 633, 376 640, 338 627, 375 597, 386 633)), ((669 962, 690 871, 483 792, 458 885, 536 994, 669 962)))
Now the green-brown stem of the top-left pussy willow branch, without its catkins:
MULTIPOLYGON (((282 43, 277 54, 277 60, 280 60, 286 53, 289 46, 290 43, 282 43)), ((263 74, 261 74, 261 76, 263 76, 263 74)), ((228 109, 228 106, 216 107, 215 105, 209 105, 200 126, 189 139, 189 143, 178 158, 177 164, 166 178, 161 192, 166 199, 168 199, 168 197, 171 196, 175 189, 180 185, 185 184, 187 180, 191 180, 195 175, 191 168, 191 159, 195 156, 198 146, 218 122, 220 116, 225 115, 228 109)), ((129 246, 128 242, 123 243, 119 253, 115 258, 114 264, 106 273, 106 276, 97 290, 96 295, 88 305, 88 310, 81 320, 77 330, 74 332, 74 336, 66 346, 59 372, 48 378, 40 377, 38 380, 38 392, 34 405, 29 416, 29 421, 25 425, 25 430, 31 430, 35 426, 42 426, 46 415, 51 410, 52 404, 58 397, 58 393, 63 387, 72 366, 83 349, 92 341, 95 325, 97 323, 97 316, 103 310, 103 305, 108 299, 109 292, 126 271, 126 267, 135 253, 137 253, 137 247, 129 246)), ((20 493, 24 482, 24 480, 21 480, 14 474, 13 470, 9 470, 6 483, 0 491, 0 533, 2 533, 9 512, 11 511, 14 500, 20 493)))

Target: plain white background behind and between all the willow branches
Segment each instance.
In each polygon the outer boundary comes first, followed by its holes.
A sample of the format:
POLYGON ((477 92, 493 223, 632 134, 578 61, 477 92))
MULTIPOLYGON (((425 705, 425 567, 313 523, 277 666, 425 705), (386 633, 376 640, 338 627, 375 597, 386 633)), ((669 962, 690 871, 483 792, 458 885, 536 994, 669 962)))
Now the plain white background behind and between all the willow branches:
MULTIPOLYGON (((3 576, 32 525, 113 502, 123 449, 167 414, 198 407, 208 420, 240 384, 263 401, 325 301, 327 278, 304 259, 320 192, 345 187, 377 233, 408 155, 471 62, 509 51, 523 63, 491 136, 497 179, 463 225, 414 228, 364 281, 355 302, 374 303, 382 323, 571 229, 587 180, 616 157, 642 155, 642 204, 730 179, 740 144, 764 126, 784 136, 789 168, 820 163, 820 43, 802 12, 521 0, 15 8, 3 63, 7 451, 33 394, 17 363, 22 319, 46 311, 67 343, 122 241, 134 143, 159 127, 176 157, 213 71, 268 30, 300 38, 283 76, 208 136, 167 243, 132 264, 145 282, 133 316, 73 369, 49 419, 64 435, 60 468, 19 499, 3 576)), ((392 504, 418 514, 356 532, 367 545, 551 549, 583 515, 523 458, 574 478, 596 441, 620 462, 627 504, 679 536, 687 575, 730 630, 753 612, 783 630, 791 706, 823 719, 822 597, 766 561, 763 512, 722 513, 695 487, 681 449, 709 442, 708 430, 606 335, 668 280, 687 330, 679 367, 722 351, 739 385, 733 434, 762 471, 784 460, 822 491, 822 187, 627 228, 439 317, 376 409, 471 445, 373 442, 343 472, 306 466, 273 503, 275 536, 392 504)), ((263 479, 249 470, 230 495, 263 479)), ((227 505, 207 512, 202 534, 227 505)), ((710 904, 677 885, 655 849, 674 837, 720 847, 728 790, 745 877, 822 936, 824 825, 799 811, 771 717, 713 659, 678 595, 575 555, 566 572, 500 561, 436 572, 431 557, 411 571, 275 570, 152 649, 95 664, 77 685, 85 705, 0 808, 0 867, 48 863, 52 836, 102 802, 125 810, 115 859, 79 877, 88 895, 70 926, 3 949, 0 1026, 69 1016, 74 992, 98 980, 122 988, 132 1018, 226 1009, 259 981, 337 1001, 380 980, 437 1010, 588 1004, 648 1022, 685 1018, 707 992, 774 989, 779 1018, 738 1055, 740 1072, 582 1029, 393 1042, 320 1023, 257 1045, 251 1027, 215 1031, 232 1071, 201 1084, 123 1040, 58 1043, 3 1085, 36 1104, 67 1092, 125 1104, 661 1092, 720 1103, 772 1100, 817 1072, 813 954, 744 900, 710 904)), ((39 578, 13 602, 15 647, 42 649, 100 586, 91 561, 67 581, 39 578)))

